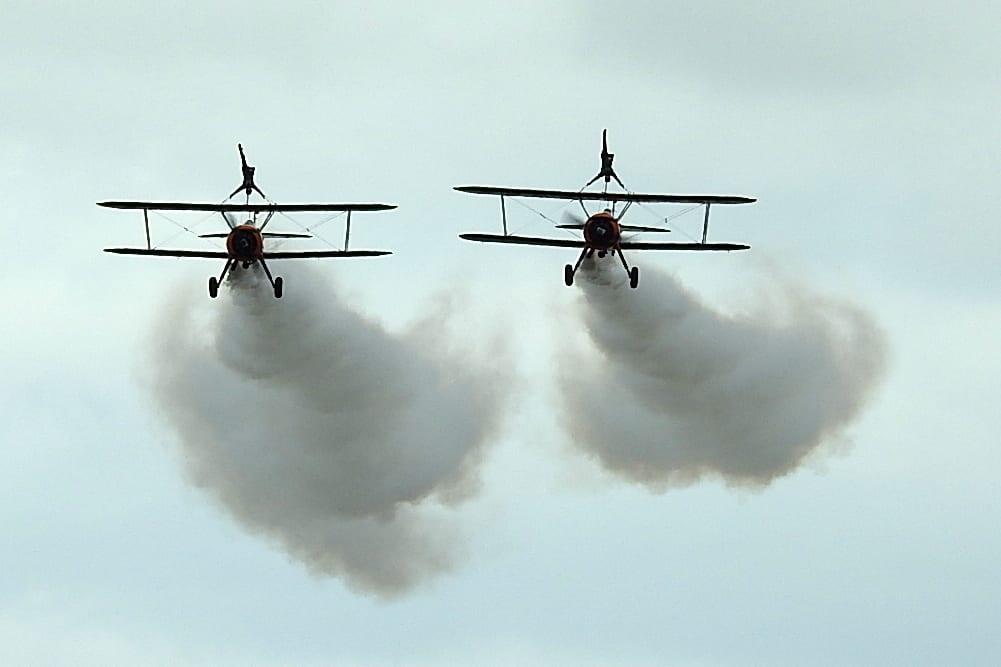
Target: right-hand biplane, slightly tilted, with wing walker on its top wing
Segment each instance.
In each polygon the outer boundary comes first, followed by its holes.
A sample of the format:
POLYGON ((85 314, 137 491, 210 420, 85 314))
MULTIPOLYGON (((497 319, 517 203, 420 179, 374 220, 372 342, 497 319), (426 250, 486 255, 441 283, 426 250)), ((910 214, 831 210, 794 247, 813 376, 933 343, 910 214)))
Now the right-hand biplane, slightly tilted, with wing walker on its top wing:
MULTIPOLYGON (((636 287, 640 283, 640 268, 630 266, 626 261, 623 250, 746 250, 750 245, 740 243, 710 243, 709 236, 709 209, 713 204, 741 204, 756 201, 752 197, 719 194, 641 194, 626 190, 619 176, 612 169, 612 160, 615 157, 609 152, 608 130, 602 132, 602 168, 598 175, 591 179, 585 188, 597 181, 599 178, 605 179, 602 191, 587 191, 584 188, 578 191, 570 190, 546 190, 524 187, 493 187, 486 185, 459 185, 454 189, 459 192, 470 194, 490 194, 500 197, 500 221, 504 229, 503 234, 480 234, 464 233, 459 234, 459 238, 482 243, 513 243, 518 245, 548 245, 552 247, 573 247, 581 248, 581 254, 577 258, 577 263, 567 264, 564 268, 564 281, 567 286, 574 284, 574 276, 577 274, 581 263, 586 257, 592 257, 595 253, 599 257, 607 254, 618 255, 622 261, 626 273, 629 275, 631 287, 636 287), (615 179, 623 191, 609 191, 609 183, 615 179), (521 236, 508 232, 508 210, 506 206, 507 197, 526 197, 542 199, 566 199, 577 201, 581 204, 586 217, 581 218, 569 215, 570 223, 556 224, 562 229, 577 229, 583 232, 583 238, 545 238, 539 236, 521 236), (590 212, 585 202, 604 202, 602 210, 590 212), (617 213, 616 207, 623 203, 622 209, 617 213), (664 233, 670 229, 662 226, 642 226, 624 224, 623 216, 635 203, 687 203, 706 207, 703 219, 702 241, 687 243, 660 243, 636 241, 625 238, 624 232, 639 233, 664 233)), ((537 211, 538 212, 538 211, 537 211)), ((544 215, 544 217, 546 217, 544 215)))

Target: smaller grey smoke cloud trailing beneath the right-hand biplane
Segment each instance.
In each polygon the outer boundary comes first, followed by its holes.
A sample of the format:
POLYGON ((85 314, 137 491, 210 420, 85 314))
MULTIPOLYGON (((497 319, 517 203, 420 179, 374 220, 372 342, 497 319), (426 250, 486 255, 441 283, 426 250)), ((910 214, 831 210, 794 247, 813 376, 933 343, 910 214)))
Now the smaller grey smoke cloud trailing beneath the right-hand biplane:
POLYGON ((582 266, 600 354, 565 356, 561 384, 575 443, 627 479, 767 485, 838 436, 882 376, 883 336, 854 305, 783 287, 784 311, 727 316, 669 275, 630 289, 623 273, 582 266))

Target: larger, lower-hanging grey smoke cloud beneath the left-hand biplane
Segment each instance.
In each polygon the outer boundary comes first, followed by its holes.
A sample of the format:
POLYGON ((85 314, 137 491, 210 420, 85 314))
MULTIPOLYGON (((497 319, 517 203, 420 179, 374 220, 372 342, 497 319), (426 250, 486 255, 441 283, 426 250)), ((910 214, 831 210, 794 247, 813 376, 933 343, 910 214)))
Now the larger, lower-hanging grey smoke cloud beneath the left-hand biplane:
POLYGON ((390 335, 292 269, 280 300, 242 269, 214 301, 174 299, 155 398, 189 476, 244 526, 352 588, 402 594, 457 563, 440 510, 475 491, 506 383, 443 349, 444 312, 390 335))

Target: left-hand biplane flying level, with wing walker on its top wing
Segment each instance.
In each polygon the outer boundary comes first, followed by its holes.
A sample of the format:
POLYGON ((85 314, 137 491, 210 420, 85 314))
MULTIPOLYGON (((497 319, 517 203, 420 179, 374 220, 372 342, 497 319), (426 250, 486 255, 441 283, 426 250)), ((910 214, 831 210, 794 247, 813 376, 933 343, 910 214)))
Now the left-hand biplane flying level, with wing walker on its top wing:
MULTIPOLYGON (((243 158, 242 146, 240 146, 240 157, 243 158)), ((252 167, 247 176, 248 167, 246 160, 242 159, 244 165, 244 183, 233 193, 239 192, 249 183, 247 189, 246 203, 200 203, 185 201, 100 201, 98 206, 107 208, 124 208, 131 210, 142 210, 143 219, 146 225, 146 247, 108 247, 105 252, 116 254, 138 254, 159 257, 202 257, 207 259, 223 259, 225 261, 222 272, 218 276, 212 275, 208 278, 208 295, 212 298, 219 292, 219 285, 231 271, 240 267, 249 269, 254 264, 260 264, 271 288, 274 290, 276 298, 281 298, 282 279, 281 276, 272 275, 268 267, 271 259, 305 259, 311 257, 372 257, 390 254, 388 250, 350 250, 348 243, 351 235, 351 213, 354 211, 375 211, 395 208, 392 204, 382 203, 292 203, 280 204, 271 201, 260 203, 250 203, 250 189, 256 189, 253 184, 252 167), (149 211, 211 211, 221 215, 228 227, 228 231, 200 234, 199 238, 219 238, 225 239, 225 250, 187 250, 176 248, 153 247, 149 235, 149 211), (346 212, 346 228, 344 231, 344 247, 339 250, 268 250, 265 247, 267 239, 288 239, 288 238, 313 238, 310 233, 291 232, 271 232, 265 231, 268 223, 276 213, 289 212, 346 212), (244 213, 247 215, 242 222, 235 218, 233 213, 244 213), (258 220, 263 215, 262 220, 258 220)), ((232 196, 232 195, 230 195, 232 196)))

